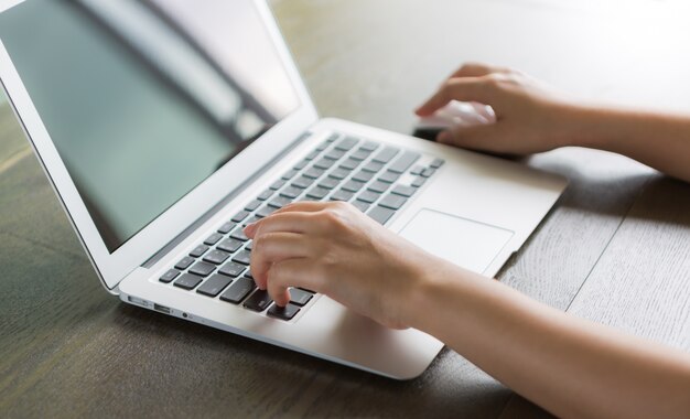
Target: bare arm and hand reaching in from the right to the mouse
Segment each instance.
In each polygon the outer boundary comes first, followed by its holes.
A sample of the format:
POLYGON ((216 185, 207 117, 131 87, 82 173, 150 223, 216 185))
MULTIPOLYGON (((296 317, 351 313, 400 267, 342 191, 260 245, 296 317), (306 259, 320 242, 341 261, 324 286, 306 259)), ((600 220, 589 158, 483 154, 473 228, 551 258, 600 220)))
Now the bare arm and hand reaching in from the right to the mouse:
POLYGON ((690 115, 584 104, 519 72, 481 64, 459 69, 418 114, 431 115, 452 99, 490 105, 498 121, 444 132, 440 142, 515 154, 589 147, 627 155, 690 182, 690 115))

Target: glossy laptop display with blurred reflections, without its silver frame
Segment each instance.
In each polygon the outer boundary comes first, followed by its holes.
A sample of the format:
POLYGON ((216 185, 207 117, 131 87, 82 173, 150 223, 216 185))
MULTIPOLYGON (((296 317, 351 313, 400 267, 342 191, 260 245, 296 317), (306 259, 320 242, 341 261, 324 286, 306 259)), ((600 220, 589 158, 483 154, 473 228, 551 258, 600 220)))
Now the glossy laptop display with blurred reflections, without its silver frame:
POLYGON ((300 105, 248 0, 26 0, 0 39, 110 253, 300 105))

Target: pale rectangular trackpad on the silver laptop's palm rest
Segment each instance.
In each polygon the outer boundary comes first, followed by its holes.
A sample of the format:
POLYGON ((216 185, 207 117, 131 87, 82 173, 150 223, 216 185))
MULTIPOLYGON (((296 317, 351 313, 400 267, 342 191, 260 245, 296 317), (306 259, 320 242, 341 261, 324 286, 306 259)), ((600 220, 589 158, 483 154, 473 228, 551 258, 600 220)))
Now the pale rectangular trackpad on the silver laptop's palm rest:
POLYGON ((405 226, 400 236, 430 254, 483 273, 513 232, 424 208, 405 226))

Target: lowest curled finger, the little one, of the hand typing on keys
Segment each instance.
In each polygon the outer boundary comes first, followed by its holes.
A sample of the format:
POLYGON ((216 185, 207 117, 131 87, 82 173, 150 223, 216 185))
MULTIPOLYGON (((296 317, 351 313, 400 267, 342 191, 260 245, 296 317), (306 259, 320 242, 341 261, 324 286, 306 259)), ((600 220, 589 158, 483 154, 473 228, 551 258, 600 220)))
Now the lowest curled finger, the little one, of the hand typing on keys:
POLYGON ((290 302, 290 287, 306 288, 324 293, 325 283, 319 276, 313 260, 288 259, 273 264, 268 272, 268 293, 276 304, 285 307, 290 302))

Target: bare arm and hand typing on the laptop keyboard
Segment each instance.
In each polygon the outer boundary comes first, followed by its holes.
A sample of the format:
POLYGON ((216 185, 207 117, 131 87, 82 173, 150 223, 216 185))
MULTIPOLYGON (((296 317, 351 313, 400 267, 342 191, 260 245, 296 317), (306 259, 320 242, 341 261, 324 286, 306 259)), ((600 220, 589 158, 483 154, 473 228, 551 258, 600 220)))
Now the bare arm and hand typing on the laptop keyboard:
POLYGON ((438 259, 349 204, 293 204, 246 232, 251 271, 279 304, 288 287, 305 287, 387 326, 420 329, 558 416, 690 416, 690 355, 438 259))

